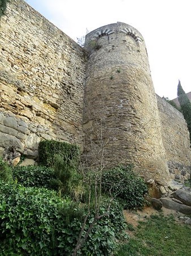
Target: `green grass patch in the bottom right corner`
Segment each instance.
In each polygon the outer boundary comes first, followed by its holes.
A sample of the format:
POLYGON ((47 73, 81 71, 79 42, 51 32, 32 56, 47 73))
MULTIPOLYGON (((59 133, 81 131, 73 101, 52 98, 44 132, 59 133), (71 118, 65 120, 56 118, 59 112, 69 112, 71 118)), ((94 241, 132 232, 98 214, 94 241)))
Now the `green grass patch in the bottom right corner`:
POLYGON ((153 215, 141 222, 116 256, 190 256, 191 228, 176 223, 173 216, 153 215))

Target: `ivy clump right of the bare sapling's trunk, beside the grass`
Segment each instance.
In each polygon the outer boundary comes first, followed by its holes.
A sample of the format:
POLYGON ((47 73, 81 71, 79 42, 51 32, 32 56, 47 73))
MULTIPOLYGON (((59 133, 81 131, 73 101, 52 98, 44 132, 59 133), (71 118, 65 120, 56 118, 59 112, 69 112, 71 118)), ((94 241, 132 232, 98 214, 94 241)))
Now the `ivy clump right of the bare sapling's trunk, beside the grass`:
MULTIPOLYGON (((118 239, 123 240, 127 238, 124 232, 126 224, 121 206, 114 200, 108 211, 108 204, 109 199, 102 202, 99 215, 108 214, 99 219, 96 225, 94 225, 85 245, 81 249, 82 255, 87 255, 88 252, 89 255, 111 255, 117 246, 118 239)), ((92 211, 85 227, 85 232, 92 223, 93 218, 94 212, 92 211)))

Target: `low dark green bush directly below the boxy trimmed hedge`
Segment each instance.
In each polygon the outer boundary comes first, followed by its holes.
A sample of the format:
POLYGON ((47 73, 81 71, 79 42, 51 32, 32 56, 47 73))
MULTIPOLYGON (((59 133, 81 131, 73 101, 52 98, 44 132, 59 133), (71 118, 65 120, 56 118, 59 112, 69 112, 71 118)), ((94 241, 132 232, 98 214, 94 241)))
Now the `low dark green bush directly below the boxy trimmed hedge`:
POLYGON ((46 187, 53 186, 52 180, 55 178, 53 169, 45 166, 16 166, 13 169, 13 178, 25 187, 46 187))

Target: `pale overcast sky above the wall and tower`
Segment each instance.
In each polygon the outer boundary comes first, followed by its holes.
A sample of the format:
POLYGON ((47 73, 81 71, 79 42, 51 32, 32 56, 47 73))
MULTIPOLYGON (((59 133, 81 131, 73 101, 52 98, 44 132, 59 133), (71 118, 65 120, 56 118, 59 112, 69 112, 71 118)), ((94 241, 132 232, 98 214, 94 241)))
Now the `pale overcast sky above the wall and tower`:
POLYGON ((177 96, 179 79, 191 91, 190 0, 26 0, 76 40, 88 31, 124 22, 141 32, 149 55, 155 92, 177 96))

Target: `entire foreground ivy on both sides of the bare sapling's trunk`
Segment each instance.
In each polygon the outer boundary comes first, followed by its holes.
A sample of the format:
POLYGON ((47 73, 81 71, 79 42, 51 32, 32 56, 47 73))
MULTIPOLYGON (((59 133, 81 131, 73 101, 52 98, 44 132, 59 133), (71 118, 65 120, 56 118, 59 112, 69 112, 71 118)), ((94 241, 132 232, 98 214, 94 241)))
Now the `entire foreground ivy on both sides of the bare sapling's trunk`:
MULTIPOLYGON (((104 213, 107 203, 101 207, 104 213)), ((83 205, 61 199, 46 188, 0 182, 0 251, 2 255, 70 255, 77 242, 83 205)), ((93 221, 93 212, 86 230, 93 221)), ((82 255, 110 255, 124 217, 118 203, 98 220, 81 248, 82 255)))

